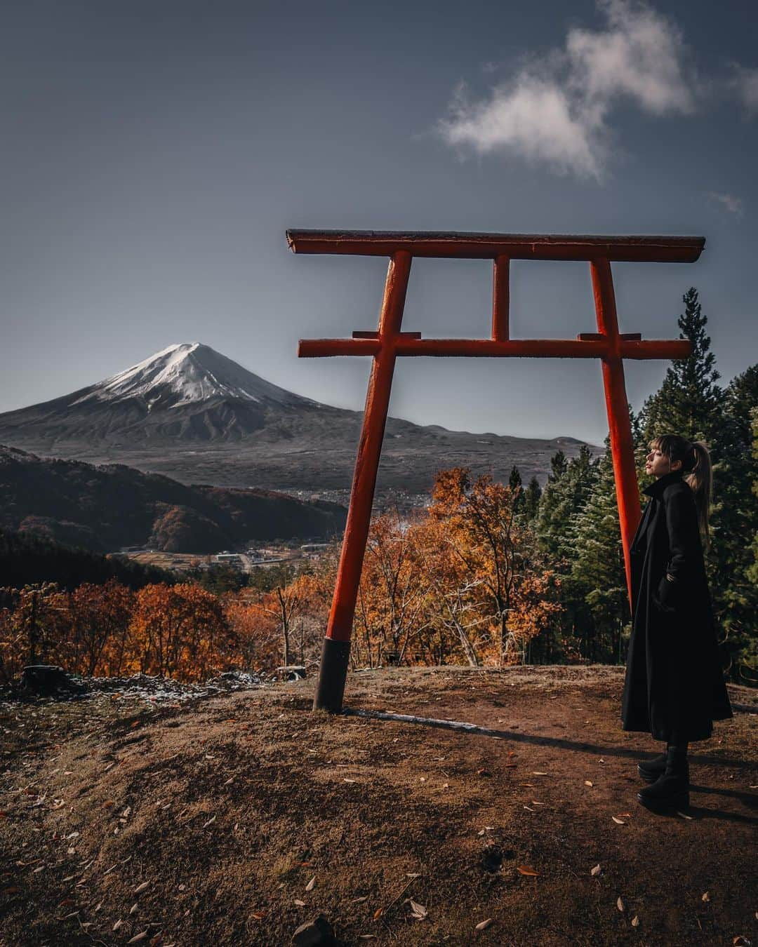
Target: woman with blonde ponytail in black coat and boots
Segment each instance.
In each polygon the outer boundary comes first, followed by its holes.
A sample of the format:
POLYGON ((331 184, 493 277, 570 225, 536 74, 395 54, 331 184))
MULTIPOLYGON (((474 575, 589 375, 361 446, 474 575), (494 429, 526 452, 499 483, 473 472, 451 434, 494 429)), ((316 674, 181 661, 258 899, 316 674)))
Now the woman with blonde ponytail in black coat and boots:
POLYGON ((622 698, 624 730, 666 743, 638 771, 638 794, 659 812, 690 803, 688 743, 708 740, 732 716, 703 562, 712 468, 702 441, 676 434, 651 441, 646 473, 656 480, 630 548, 632 635, 622 698), (702 542, 701 542, 702 535, 702 542))

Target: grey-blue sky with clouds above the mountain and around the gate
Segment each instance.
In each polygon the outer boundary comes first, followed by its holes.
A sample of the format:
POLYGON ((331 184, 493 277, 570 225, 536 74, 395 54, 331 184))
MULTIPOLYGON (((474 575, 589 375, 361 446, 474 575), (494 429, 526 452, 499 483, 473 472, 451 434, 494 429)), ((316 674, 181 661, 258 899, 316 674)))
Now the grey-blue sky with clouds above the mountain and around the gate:
MULTIPOLYGON (((386 259, 287 228, 704 236, 614 264, 621 331, 699 291, 721 384, 758 361, 758 10, 723 0, 21 0, 0 29, 0 411, 178 342, 362 409, 386 259)), ((403 328, 486 337, 492 264, 415 260, 403 328)), ((596 331, 587 263, 514 261, 513 337, 596 331)), ((661 361, 627 362, 635 410, 661 361)), ((601 366, 399 359, 390 413, 607 434, 601 366)))

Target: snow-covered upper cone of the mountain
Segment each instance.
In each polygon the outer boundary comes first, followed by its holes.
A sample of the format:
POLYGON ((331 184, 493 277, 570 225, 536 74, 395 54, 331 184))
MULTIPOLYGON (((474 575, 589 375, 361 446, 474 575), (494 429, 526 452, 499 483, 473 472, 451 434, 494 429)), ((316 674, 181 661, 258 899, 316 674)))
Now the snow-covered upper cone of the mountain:
POLYGON ((93 385, 75 404, 137 399, 148 410, 177 408, 197 402, 313 404, 266 382, 220 352, 199 342, 183 342, 151 355, 93 385))

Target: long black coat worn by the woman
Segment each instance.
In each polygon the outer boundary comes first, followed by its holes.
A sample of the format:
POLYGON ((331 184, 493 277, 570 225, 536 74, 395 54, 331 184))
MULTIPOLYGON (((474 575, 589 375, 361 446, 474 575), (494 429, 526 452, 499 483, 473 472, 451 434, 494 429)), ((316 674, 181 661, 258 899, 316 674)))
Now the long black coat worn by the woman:
POLYGON ((655 740, 707 740, 732 716, 716 643, 695 494, 679 471, 650 497, 631 545, 632 635, 622 698, 624 730, 655 740), (676 581, 666 578, 668 572, 676 581))

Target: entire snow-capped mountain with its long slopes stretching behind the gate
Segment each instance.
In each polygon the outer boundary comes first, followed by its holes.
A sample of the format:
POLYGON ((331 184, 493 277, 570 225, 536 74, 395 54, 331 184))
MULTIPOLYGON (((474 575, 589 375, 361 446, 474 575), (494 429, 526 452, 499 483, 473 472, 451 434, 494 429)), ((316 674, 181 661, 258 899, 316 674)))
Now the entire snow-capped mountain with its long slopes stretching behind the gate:
MULTIPOLYGON (((62 398, 0 414, 0 442, 46 456, 127 464, 186 484, 311 495, 350 487, 361 421, 360 412, 303 398, 213 348, 183 343, 62 398)), ((507 480, 515 464, 525 483, 532 475, 544 483, 550 457, 559 449, 575 456, 583 443, 389 418, 378 491, 428 491, 436 471, 451 466, 507 480)))

